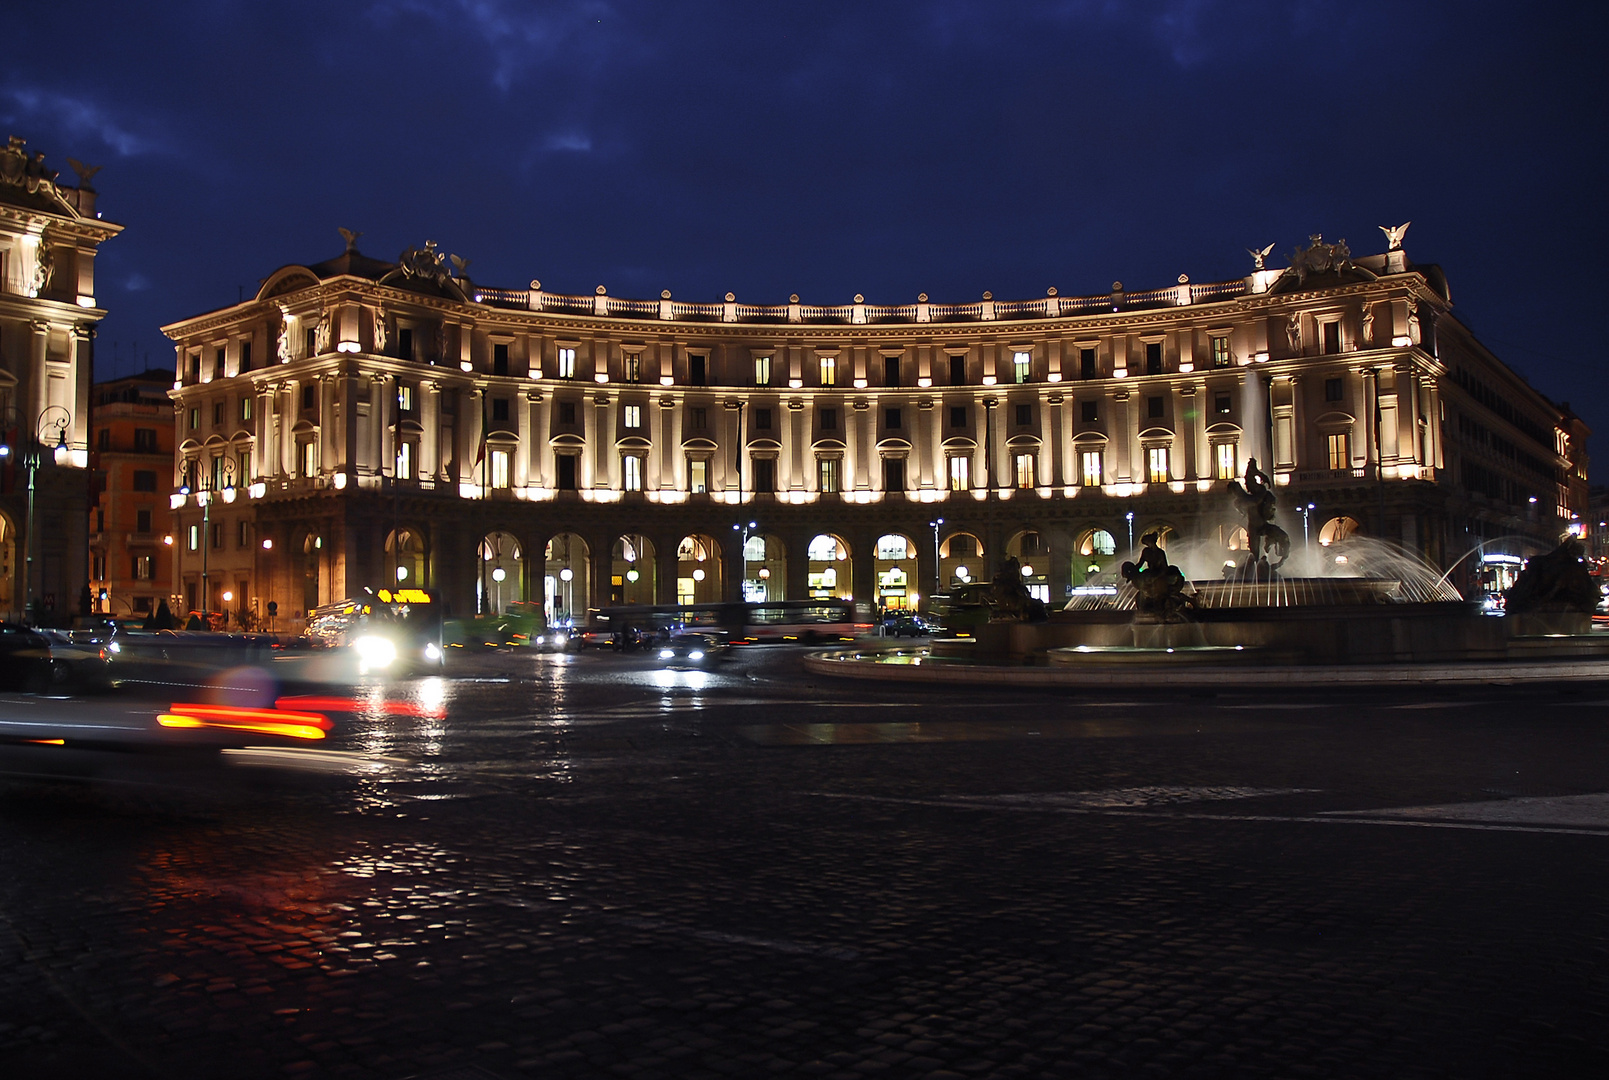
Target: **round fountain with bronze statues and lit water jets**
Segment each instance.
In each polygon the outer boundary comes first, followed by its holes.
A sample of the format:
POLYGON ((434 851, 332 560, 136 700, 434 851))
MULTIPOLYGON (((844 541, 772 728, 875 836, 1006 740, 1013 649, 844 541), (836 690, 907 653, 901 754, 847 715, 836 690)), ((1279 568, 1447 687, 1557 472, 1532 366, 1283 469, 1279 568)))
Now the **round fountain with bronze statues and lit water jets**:
POLYGON ((996 608, 970 639, 809 663, 840 674, 846 660, 907 673, 961 665, 973 681, 993 681, 990 666, 1028 666, 1046 676, 1028 681, 1101 684, 1609 679, 1609 636, 1590 634, 1598 587, 1575 541, 1532 559, 1509 610, 1490 616, 1398 544, 1350 536, 1294 546, 1255 459, 1229 493, 1245 520, 1244 550, 1165 550, 1147 533, 1136 559, 1046 620, 996 608))

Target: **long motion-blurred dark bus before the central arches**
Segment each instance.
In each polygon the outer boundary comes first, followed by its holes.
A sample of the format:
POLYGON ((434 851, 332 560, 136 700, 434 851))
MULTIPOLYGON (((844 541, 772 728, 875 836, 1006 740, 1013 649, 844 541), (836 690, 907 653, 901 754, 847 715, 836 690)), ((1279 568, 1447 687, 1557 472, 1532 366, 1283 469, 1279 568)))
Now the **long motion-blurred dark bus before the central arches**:
POLYGON ((684 631, 710 631, 726 634, 732 644, 809 644, 853 641, 875 628, 870 605, 854 600, 634 604, 587 610, 581 641, 636 649, 684 631))

